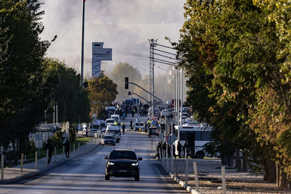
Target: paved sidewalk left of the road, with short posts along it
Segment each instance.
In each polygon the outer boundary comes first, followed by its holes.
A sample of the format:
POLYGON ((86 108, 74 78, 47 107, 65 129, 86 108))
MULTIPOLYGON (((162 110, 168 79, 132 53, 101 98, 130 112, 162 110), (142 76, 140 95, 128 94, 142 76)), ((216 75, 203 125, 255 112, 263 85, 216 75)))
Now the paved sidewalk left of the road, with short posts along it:
MULTIPOLYGON (((82 136, 82 134, 77 136, 82 136)), ((99 139, 101 141, 101 139, 99 139)), ((54 168, 55 166, 76 158, 78 156, 82 156, 87 154, 88 152, 91 152, 93 149, 95 149, 100 143, 98 143, 98 138, 96 138, 96 143, 95 143, 95 138, 92 138, 92 141, 88 141, 84 145, 80 146, 79 151, 78 151, 78 144, 75 145, 75 154, 73 151, 73 146, 71 147, 70 151, 70 158, 66 158, 65 153, 64 154, 59 154, 55 155, 53 152, 53 155, 51 156, 51 162, 49 165, 47 165, 47 159, 42 158, 42 159, 37 159, 37 170, 35 170, 35 159, 32 160, 32 162, 25 163, 25 160, 23 160, 23 169, 22 169, 22 174, 20 174, 21 171, 21 166, 14 166, 12 168, 4 168, 4 173, 3 173, 3 180, 2 177, 0 179, 0 184, 9 184, 13 183, 15 181, 22 180, 23 178, 27 178, 30 176, 34 176, 36 174, 41 174, 44 173, 45 171, 50 170, 51 168, 54 168), (88 145, 87 145, 88 144, 88 145), (87 147, 88 146, 88 147, 87 147)), ((28 160, 26 160, 28 161, 28 160)), ((31 160, 30 160, 31 161, 31 160)))

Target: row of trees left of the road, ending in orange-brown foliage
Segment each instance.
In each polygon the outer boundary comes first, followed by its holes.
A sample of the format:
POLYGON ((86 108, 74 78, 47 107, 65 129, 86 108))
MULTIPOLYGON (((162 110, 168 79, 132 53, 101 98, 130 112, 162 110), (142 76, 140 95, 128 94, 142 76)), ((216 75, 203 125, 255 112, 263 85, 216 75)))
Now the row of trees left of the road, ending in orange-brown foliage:
POLYGON ((45 57, 57 36, 40 40, 41 5, 38 0, 0 0, 0 154, 14 162, 30 150, 29 134, 40 123, 53 122, 56 103, 58 122, 88 123, 95 104, 111 103, 118 94, 107 76, 89 81, 86 89, 74 69, 45 57))

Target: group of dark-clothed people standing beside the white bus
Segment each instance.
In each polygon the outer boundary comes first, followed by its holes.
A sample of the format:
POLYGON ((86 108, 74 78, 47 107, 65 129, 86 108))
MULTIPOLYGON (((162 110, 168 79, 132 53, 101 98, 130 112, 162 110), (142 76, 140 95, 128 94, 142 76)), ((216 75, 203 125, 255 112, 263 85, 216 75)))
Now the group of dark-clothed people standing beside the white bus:
MULTIPOLYGON (((150 137, 150 135, 149 135, 149 137, 150 137)), ((162 144, 162 142, 159 142, 158 145, 156 146, 156 157, 157 158, 160 158, 159 157, 159 154, 161 153, 162 156, 165 156, 165 158, 166 158, 166 149, 167 149, 167 143, 164 142, 162 144)), ((189 154, 189 151, 188 151, 188 141, 186 141, 183 146, 181 146, 181 143, 180 142, 177 142, 177 151, 178 151, 178 157, 179 158, 181 158, 182 149, 183 149, 183 152, 184 152, 183 158, 185 158, 185 153, 187 153, 186 154, 186 158, 188 158, 188 154, 189 154)), ((168 157, 169 158, 171 158, 171 152, 170 152, 170 150, 171 150, 171 147, 170 147, 170 144, 168 144, 168 157)), ((176 158, 175 151, 176 151, 176 147, 173 144, 173 156, 176 158)), ((163 157, 161 157, 161 158, 163 158, 163 157)))

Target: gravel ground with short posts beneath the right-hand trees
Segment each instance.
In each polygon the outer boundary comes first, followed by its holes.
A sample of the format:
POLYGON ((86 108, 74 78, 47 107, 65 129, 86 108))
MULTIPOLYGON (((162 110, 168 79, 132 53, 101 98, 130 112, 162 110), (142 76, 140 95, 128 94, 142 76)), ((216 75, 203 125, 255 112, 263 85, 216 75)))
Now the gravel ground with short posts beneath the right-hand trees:
MULTIPOLYGON (((222 189, 221 182, 221 161, 220 160, 188 160, 188 185, 195 189, 195 176, 193 162, 197 164, 199 192, 205 194, 220 194, 222 189)), ((169 161, 169 171, 171 171, 171 162, 169 161)), ((164 163, 166 165, 166 162, 164 163)), ((175 172, 175 163, 173 165, 173 174, 175 172)), ((178 175, 180 180, 185 181, 185 160, 177 160, 178 175)), ((236 168, 225 166, 226 186, 228 194, 285 194, 291 193, 291 190, 277 187, 275 183, 263 181, 263 173, 251 174, 250 169, 247 172, 238 172, 236 168)))

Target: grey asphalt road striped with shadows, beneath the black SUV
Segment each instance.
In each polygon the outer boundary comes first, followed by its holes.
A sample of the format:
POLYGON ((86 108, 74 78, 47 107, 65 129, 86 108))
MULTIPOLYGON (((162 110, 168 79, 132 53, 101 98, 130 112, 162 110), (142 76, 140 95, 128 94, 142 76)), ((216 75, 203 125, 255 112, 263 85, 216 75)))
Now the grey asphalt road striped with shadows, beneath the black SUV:
MULTIPOLYGON (((147 117, 141 118, 147 120, 147 117)), ((135 122, 135 118, 128 117, 127 126, 130 119, 135 122)), ((16 184, 1 185, 0 193, 188 193, 155 160, 157 142, 157 137, 149 139, 146 134, 125 131, 116 146, 98 146, 87 155, 52 168, 46 175, 16 184), (140 181, 123 177, 105 180, 106 160, 103 156, 109 156, 113 148, 134 149, 137 157, 143 158, 140 161, 140 181)))

